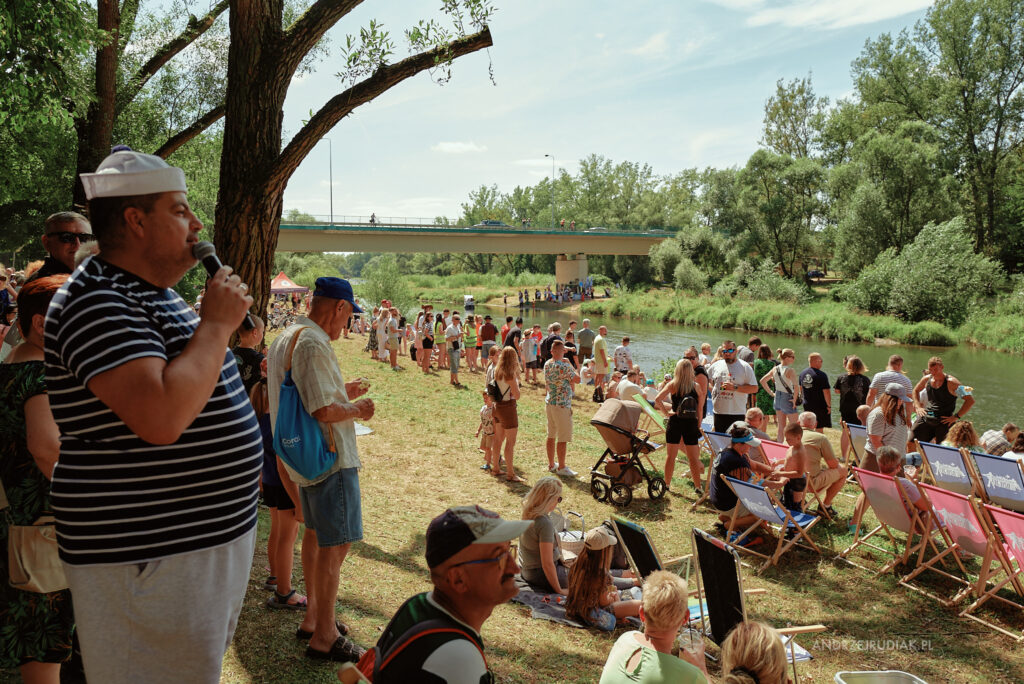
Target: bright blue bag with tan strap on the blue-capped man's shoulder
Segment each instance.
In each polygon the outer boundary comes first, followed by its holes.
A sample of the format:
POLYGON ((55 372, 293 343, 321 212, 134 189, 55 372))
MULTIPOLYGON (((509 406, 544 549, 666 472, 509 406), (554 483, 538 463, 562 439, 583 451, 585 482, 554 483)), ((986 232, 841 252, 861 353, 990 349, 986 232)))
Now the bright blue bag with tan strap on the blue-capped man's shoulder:
POLYGON ((273 448, 278 456, 292 470, 307 480, 314 480, 326 473, 338 458, 338 448, 334 442, 334 431, 330 446, 324 440, 319 422, 310 416, 302 405, 299 388, 292 380, 292 352, 299 335, 305 328, 300 328, 288 347, 288 362, 285 367, 285 380, 281 383, 281 394, 278 398, 278 421, 273 431, 273 448))

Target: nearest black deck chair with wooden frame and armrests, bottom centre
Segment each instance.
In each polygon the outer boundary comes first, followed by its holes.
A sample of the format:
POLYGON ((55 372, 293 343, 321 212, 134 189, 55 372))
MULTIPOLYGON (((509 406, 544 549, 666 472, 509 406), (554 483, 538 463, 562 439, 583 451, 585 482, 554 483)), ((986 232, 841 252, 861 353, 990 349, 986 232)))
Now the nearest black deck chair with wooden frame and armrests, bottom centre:
MULTIPOLYGON (((739 555, 722 540, 702 529, 691 533, 693 557, 697 565, 697 606, 700 611, 701 632, 713 642, 722 645, 736 625, 746 619, 746 596, 767 594, 764 589, 743 589, 743 573, 739 555), (705 613, 705 603, 708 612, 705 613)), ((691 615, 692 618, 692 615, 691 615)), ((824 625, 791 627, 776 630, 784 636, 824 632, 824 625)), ((793 662, 793 681, 799 682, 797 659, 794 656, 794 639, 790 639, 790 660, 793 662)))

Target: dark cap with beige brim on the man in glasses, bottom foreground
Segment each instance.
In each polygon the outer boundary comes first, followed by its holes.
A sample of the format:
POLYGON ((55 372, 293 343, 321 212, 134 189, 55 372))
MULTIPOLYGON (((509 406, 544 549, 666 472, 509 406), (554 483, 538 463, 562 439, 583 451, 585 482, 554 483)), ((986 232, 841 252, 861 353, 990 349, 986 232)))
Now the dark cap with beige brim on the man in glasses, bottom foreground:
POLYGON ((427 566, 437 567, 471 544, 510 542, 532 524, 532 520, 503 520, 479 506, 455 506, 427 525, 427 566))

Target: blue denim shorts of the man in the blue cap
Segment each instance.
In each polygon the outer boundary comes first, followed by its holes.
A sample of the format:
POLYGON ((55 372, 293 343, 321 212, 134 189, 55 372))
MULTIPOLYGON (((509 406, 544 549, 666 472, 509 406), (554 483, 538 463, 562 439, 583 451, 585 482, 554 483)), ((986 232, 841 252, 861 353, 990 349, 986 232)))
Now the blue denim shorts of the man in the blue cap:
POLYGON ((359 469, 342 468, 323 482, 299 487, 306 527, 316 532, 322 549, 362 539, 359 469))

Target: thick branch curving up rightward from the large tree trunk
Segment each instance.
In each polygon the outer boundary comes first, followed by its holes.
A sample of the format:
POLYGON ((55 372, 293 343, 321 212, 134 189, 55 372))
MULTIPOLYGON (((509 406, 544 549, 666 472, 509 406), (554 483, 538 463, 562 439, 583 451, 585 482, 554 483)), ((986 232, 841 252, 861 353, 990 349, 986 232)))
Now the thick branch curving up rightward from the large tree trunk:
POLYGON ((381 67, 370 78, 328 100, 282 151, 273 165, 271 176, 287 180, 321 138, 358 105, 369 102, 401 81, 435 67, 444 59, 456 59, 492 45, 494 41, 490 39, 490 30, 484 27, 483 31, 460 38, 444 47, 420 52, 393 65, 381 67))

